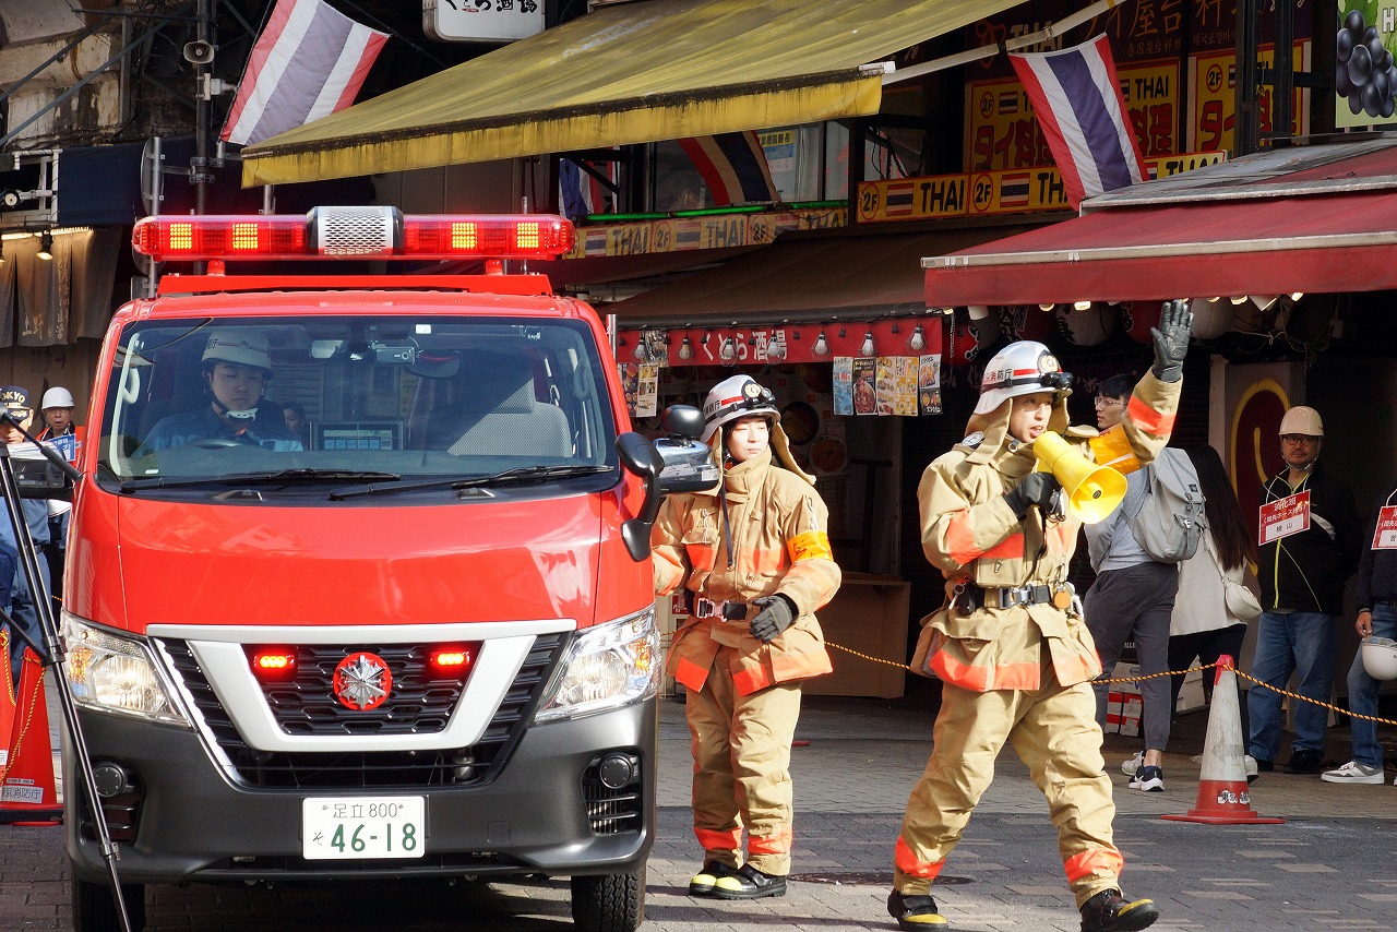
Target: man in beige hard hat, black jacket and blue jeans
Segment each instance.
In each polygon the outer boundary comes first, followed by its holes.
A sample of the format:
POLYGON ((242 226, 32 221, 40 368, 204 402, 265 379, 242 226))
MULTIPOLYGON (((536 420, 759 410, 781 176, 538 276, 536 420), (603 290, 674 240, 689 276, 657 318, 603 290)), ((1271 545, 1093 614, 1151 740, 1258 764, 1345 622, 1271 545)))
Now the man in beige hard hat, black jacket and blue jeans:
MULTIPOLYGON (((1285 468, 1261 486, 1257 577, 1261 622, 1256 629, 1246 708, 1249 776, 1275 769, 1281 745, 1281 693, 1298 673, 1301 696, 1327 703, 1334 686, 1336 619, 1344 611, 1344 581, 1358 567, 1358 510, 1348 486, 1324 471, 1319 451, 1324 422, 1319 411, 1295 405, 1277 432, 1285 468)), ((1329 710, 1295 706, 1295 741, 1285 773, 1317 774, 1324 764, 1329 710)))

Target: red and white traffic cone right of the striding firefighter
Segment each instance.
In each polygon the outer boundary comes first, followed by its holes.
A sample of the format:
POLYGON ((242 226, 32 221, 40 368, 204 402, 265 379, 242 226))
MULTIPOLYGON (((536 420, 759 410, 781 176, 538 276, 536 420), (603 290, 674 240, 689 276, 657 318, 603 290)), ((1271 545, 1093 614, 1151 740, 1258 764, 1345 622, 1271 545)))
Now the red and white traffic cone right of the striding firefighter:
POLYGON ((1186 816, 1161 816, 1175 822, 1204 822, 1211 826, 1268 824, 1285 819, 1266 819, 1252 809, 1246 767, 1242 763, 1242 710, 1236 699, 1236 672, 1232 658, 1218 657, 1213 680, 1213 708, 1208 734, 1203 742, 1203 773, 1199 774, 1199 801, 1186 816))

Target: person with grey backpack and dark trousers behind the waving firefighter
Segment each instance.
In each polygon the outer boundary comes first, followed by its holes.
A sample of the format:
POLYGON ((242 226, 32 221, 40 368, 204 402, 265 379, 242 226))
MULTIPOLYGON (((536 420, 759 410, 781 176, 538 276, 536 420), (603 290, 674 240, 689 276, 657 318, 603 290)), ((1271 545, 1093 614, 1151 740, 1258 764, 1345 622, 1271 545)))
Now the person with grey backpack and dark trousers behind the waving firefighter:
MULTIPOLYGON (((1097 426, 1104 435, 1123 430, 1122 419, 1134 383, 1130 374, 1112 376, 1101 383, 1097 426)), ((1165 449, 1153 464, 1141 467, 1129 460, 1118 467, 1126 472, 1129 485, 1125 499, 1111 517, 1085 527, 1087 553, 1097 578, 1087 590, 1084 605, 1087 627, 1101 657, 1102 675, 1092 689, 1097 693, 1097 722, 1102 727, 1106 724, 1111 685, 1101 680, 1115 675, 1127 641, 1134 641, 1143 676, 1169 669, 1169 619, 1179 590, 1178 560, 1192 555, 1190 545, 1197 549, 1203 524, 1203 496, 1197 492, 1197 474, 1186 456, 1165 449), (1189 506, 1175 500, 1160 483, 1164 476, 1175 479, 1180 469, 1185 496, 1189 495, 1192 476, 1192 492, 1197 496, 1194 514, 1189 514, 1189 506), (1183 521, 1175 520, 1171 514, 1175 511, 1183 521)), ((1140 692, 1144 750, 1127 760, 1123 769, 1130 774, 1132 789, 1164 792, 1161 763, 1172 718, 1169 678, 1144 679, 1140 692)))

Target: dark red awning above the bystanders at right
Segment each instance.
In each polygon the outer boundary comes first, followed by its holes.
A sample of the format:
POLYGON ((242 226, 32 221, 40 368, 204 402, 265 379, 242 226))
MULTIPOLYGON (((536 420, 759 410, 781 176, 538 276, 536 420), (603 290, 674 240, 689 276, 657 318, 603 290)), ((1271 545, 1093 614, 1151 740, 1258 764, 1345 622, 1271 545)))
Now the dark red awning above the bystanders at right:
POLYGON ((1397 190, 1102 210, 922 260, 926 303, 1166 300, 1397 288, 1397 190))

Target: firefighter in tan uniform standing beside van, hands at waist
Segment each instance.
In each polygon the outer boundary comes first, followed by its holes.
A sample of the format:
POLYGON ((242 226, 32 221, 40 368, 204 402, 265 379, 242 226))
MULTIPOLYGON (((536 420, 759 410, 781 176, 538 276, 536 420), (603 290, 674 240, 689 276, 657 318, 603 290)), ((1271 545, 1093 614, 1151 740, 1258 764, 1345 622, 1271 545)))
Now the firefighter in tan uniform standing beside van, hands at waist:
POLYGON ((668 660, 689 689, 694 836, 704 848, 689 893, 784 896, 800 682, 833 669, 814 612, 840 587, 840 567, 828 511, 789 456, 771 393, 749 376, 726 379, 708 393, 704 421, 722 482, 666 499, 651 538, 655 591, 682 585, 693 601, 668 660), (771 461, 773 446, 787 469, 771 461))

